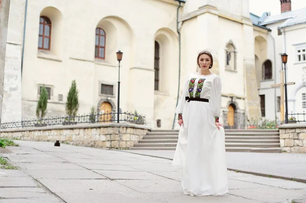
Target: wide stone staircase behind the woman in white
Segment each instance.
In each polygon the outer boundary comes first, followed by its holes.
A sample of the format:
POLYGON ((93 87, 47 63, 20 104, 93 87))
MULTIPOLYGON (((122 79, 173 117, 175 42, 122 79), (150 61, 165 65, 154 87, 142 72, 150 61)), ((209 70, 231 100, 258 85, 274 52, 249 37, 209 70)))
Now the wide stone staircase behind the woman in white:
MULTIPOLYGON (((131 150, 175 150, 179 130, 151 130, 131 150)), ((281 153, 278 130, 225 129, 226 152, 281 153)))

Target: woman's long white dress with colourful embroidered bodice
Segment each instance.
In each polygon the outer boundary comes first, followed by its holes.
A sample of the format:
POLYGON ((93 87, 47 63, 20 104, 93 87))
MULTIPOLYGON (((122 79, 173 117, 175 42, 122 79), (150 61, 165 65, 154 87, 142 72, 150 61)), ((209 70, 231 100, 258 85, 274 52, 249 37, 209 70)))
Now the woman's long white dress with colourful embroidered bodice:
POLYGON ((218 75, 190 74, 175 109, 184 124, 173 165, 181 167, 183 193, 191 196, 222 195, 228 192, 224 129, 215 125, 221 108, 221 80, 218 75), (185 97, 209 102, 186 101, 185 97))

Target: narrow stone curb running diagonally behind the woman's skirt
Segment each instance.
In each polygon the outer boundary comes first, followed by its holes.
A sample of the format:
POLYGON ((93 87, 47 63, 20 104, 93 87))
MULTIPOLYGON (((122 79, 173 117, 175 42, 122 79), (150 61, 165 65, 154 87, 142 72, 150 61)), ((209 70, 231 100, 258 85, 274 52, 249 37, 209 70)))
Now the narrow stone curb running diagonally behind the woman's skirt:
MULTIPOLYGON (((171 161, 173 160, 171 158, 141 154, 141 153, 137 153, 137 152, 129 152, 129 151, 126 151, 126 150, 115 150, 115 149, 111 149, 111 150, 119 151, 119 152, 125 152, 125 153, 131 153, 131 154, 138 154, 138 155, 148 156, 148 157, 167 159, 167 160, 171 160, 171 161)), ((251 174, 251 175, 255 175, 255 176, 267 177, 267 178, 283 179, 283 180, 288 180, 288 181, 296 181, 296 182, 300 182, 300 183, 306 183, 305 179, 289 178, 289 177, 284 177, 284 176, 275 176, 275 175, 270 175, 270 174, 266 174, 266 173, 239 170, 239 169, 235 169, 235 168, 227 168, 227 170, 232 170, 232 171, 237 171, 237 172, 247 173, 247 174, 251 174)), ((304 199, 300 199, 300 200, 292 200, 292 203, 306 203, 306 197, 304 199)))

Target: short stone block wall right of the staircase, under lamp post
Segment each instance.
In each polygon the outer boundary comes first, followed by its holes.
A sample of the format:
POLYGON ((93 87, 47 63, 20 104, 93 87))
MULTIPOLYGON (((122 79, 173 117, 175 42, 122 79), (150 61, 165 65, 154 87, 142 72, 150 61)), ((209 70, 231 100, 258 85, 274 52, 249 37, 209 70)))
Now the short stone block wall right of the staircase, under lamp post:
POLYGON ((282 151, 306 153, 306 124, 284 124, 278 128, 282 151))

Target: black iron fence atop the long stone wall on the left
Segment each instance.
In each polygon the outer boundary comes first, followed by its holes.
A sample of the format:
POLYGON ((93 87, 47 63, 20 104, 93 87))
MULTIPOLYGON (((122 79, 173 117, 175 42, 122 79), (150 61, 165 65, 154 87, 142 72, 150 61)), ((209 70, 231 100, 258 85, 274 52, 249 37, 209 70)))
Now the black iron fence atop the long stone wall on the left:
MULTIPOLYGON (((117 113, 99 113, 88 115, 77 115, 75 117, 51 117, 45 119, 29 119, 17 122, 1 123, 1 129, 9 128, 25 128, 25 127, 44 127, 44 126, 57 126, 57 125, 77 125, 77 124, 90 124, 90 123, 117 123, 117 113)), ((145 125, 145 115, 138 113, 120 112, 119 123, 134 123, 145 125)))

